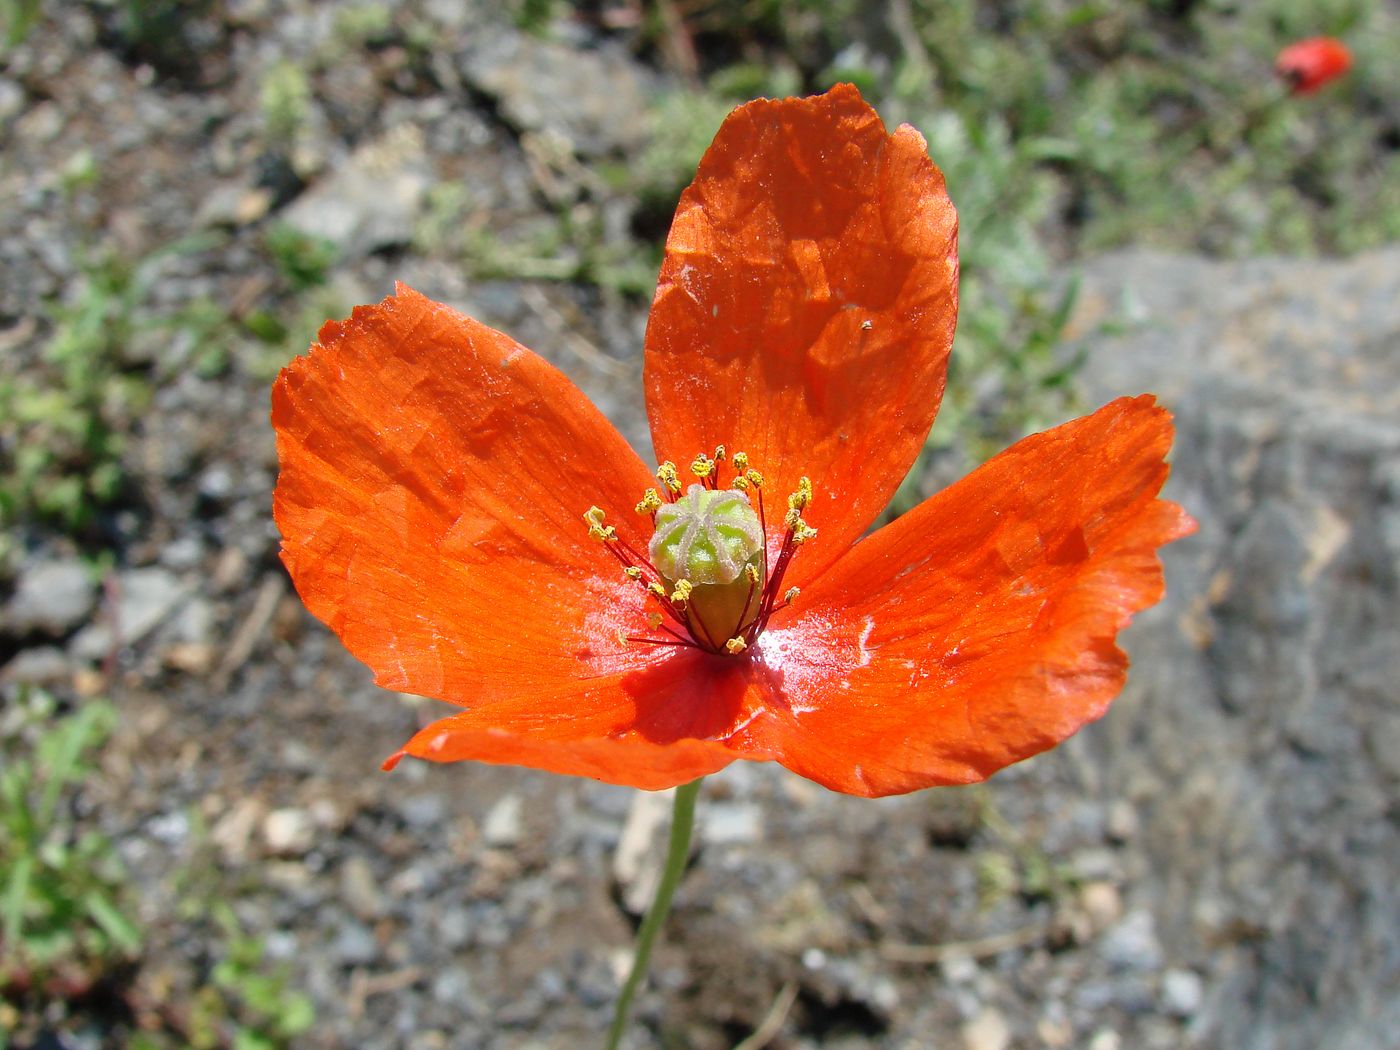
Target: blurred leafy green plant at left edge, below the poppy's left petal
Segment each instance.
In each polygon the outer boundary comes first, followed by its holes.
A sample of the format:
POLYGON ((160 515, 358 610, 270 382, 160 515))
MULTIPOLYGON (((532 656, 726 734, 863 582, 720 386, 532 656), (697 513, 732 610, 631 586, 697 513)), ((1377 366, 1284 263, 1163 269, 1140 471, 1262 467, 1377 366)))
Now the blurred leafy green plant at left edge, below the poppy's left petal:
POLYGON ((74 816, 116 710, 85 700, 55 715, 48 694, 21 696, 0 735, 0 993, 7 997, 50 987, 81 994, 141 948, 112 843, 74 816))

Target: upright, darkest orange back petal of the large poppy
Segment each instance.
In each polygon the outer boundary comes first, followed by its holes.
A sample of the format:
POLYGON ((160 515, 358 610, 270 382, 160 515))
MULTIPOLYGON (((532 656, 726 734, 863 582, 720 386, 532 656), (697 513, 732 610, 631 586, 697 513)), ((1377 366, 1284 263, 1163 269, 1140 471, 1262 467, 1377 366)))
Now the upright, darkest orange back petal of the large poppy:
POLYGON ((680 199, 647 326, 657 455, 745 451, 806 475, 801 584, 883 510, 944 392, 958 220, 923 137, 851 85, 739 106, 680 199))

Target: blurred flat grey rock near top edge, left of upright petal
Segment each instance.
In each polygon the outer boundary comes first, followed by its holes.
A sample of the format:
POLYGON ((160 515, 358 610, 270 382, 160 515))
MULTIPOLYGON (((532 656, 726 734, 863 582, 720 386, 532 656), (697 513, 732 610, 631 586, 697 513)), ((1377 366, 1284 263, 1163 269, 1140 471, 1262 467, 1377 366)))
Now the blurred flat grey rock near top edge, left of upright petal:
POLYGON ((582 155, 634 148, 647 134, 651 88, 622 52, 482 34, 463 52, 461 71, 518 130, 556 134, 582 155))

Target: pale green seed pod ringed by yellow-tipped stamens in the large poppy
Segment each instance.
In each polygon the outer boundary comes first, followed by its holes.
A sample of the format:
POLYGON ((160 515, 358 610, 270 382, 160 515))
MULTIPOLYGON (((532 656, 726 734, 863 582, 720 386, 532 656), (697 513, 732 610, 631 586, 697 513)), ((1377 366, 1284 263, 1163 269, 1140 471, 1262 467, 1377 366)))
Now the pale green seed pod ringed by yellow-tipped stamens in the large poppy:
POLYGON ((657 468, 657 489, 648 489, 637 512, 651 518, 654 532, 645 554, 606 524, 591 507, 584 515, 588 535, 599 540, 623 567, 623 574, 645 588, 657 609, 647 617, 650 634, 619 631, 623 643, 689 645, 738 657, 748 652, 769 617, 798 596, 783 591, 783 575, 797 549, 816 535, 802 519, 812 500, 804 477, 788 496, 778 556, 769 563, 763 475, 743 452, 728 459, 724 445, 714 456, 700 454, 690 463, 696 482, 682 493, 675 463, 657 468), (721 487, 721 472, 732 476, 721 487))

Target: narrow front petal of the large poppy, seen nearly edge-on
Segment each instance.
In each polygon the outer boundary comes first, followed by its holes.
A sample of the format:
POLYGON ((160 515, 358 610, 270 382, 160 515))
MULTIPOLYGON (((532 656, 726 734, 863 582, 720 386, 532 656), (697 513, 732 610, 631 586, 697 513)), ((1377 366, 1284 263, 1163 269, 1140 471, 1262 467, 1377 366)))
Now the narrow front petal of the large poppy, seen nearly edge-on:
POLYGON ((529 766, 647 791, 687 784, 739 757, 714 741, 687 738, 654 743, 636 732, 623 736, 543 739, 483 725, 475 711, 441 718, 419 731, 384 767, 393 769, 405 755, 433 762, 529 766))

